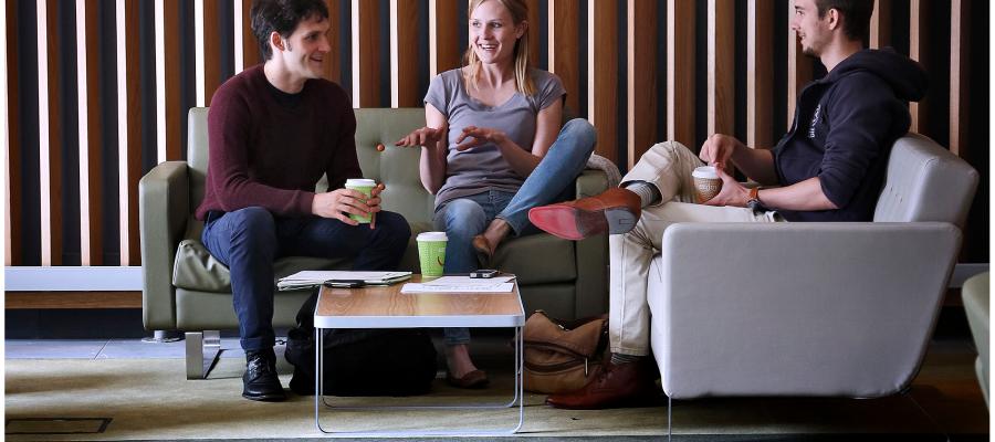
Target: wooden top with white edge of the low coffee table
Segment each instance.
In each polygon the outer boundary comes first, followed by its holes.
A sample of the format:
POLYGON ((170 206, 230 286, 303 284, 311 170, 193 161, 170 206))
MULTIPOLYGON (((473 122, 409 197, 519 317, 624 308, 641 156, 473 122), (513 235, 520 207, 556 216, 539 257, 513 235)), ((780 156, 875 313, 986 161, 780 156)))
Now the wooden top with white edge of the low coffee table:
POLYGON ((519 327, 525 311, 519 285, 509 293, 400 293, 406 283, 363 288, 322 287, 317 328, 519 327))

